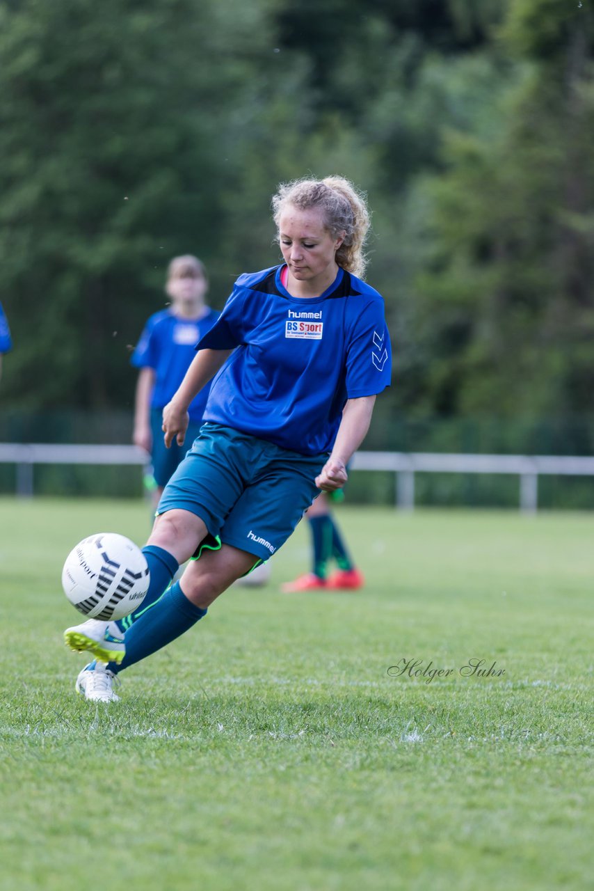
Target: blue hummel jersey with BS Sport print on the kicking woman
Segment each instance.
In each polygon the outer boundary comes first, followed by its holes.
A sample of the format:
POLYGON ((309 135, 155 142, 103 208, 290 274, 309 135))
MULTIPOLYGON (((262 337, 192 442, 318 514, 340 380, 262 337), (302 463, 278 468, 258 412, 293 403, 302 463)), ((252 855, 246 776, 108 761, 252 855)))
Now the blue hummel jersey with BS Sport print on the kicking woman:
POLYGON ((241 275, 199 341, 238 347, 212 382, 204 419, 300 454, 329 452, 346 400, 390 383, 384 301, 342 269, 321 297, 291 297, 281 269, 241 275))

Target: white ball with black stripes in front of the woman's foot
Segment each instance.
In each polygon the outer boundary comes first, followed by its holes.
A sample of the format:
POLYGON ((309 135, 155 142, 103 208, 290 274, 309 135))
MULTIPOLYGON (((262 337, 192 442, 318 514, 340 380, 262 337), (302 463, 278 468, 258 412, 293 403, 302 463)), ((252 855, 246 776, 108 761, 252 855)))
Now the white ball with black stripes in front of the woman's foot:
POLYGON ((134 542, 115 532, 83 538, 61 573, 64 593, 89 618, 110 622, 134 612, 149 590, 149 567, 134 542))

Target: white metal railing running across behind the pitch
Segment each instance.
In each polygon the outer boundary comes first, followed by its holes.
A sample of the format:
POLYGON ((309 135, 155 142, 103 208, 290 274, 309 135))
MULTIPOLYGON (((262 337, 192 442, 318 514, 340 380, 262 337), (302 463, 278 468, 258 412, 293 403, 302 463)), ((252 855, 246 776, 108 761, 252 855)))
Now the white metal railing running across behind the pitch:
MULTIPOLYGON (((35 464, 135 464, 147 455, 136 446, 77 446, 42 443, 0 443, 0 462, 16 464, 17 495, 33 495, 35 464)), ((427 452, 357 452, 352 470, 391 470, 395 473, 395 503, 412 510, 416 473, 496 473, 519 477, 520 510, 538 507, 538 478, 594 476, 594 457, 520 454, 445 454, 427 452)))

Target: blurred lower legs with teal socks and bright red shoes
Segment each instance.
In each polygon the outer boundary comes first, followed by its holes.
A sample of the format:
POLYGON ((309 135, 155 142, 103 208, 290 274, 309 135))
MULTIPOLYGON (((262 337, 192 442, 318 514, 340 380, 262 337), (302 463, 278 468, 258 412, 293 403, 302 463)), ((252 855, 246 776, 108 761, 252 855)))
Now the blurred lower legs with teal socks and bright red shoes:
POLYGON ((342 490, 338 493, 322 492, 305 514, 309 521, 312 535, 313 568, 294 582, 281 585, 283 593, 299 591, 350 590, 362 588, 365 580, 362 572, 354 566, 343 537, 338 530, 336 520, 332 517, 331 503, 340 500, 342 490), (330 573, 330 563, 334 561, 337 568, 330 573))

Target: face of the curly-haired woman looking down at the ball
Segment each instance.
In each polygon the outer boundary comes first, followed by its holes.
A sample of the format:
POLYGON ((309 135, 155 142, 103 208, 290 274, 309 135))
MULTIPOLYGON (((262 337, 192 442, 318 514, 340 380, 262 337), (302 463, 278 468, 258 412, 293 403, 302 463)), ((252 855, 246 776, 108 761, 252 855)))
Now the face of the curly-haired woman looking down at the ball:
POLYGON ((332 238, 317 208, 302 210, 289 205, 281 214, 279 242, 289 274, 319 293, 336 278, 336 252, 342 241, 342 237, 332 238))

